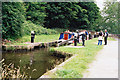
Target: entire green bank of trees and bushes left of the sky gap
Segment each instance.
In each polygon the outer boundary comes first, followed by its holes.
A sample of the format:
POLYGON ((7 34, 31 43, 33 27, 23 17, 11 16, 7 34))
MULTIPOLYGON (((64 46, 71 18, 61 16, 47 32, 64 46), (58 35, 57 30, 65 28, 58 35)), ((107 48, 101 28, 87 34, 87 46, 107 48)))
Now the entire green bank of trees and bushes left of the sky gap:
POLYGON ((100 16, 94 2, 3 2, 2 8, 4 39, 29 35, 32 30, 37 35, 55 34, 54 28, 93 30, 100 16))

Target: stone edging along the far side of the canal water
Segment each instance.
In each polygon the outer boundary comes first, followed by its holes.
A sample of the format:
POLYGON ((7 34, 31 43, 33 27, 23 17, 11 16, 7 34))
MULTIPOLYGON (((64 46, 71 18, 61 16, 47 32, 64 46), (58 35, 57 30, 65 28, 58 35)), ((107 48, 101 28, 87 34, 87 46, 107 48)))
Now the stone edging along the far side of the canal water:
POLYGON ((25 43, 27 45, 2 45, 2 51, 30 51, 30 50, 34 50, 35 48, 47 48, 47 47, 59 47, 59 46, 63 46, 63 45, 68 45, 69 41, 71 41, 73 39, 69 39, 69 40, 56 40, 53 42, 38 42, 38 43, 25 43))

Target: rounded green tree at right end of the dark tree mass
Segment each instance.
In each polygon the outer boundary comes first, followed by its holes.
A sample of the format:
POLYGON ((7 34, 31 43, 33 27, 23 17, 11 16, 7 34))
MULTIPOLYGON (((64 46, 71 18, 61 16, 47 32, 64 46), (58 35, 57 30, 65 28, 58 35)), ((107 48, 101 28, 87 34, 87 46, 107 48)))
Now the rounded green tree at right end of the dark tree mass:
POLYGON ((82 29, 95 30, 94 28, 96 26, 93 26, 93 24, 96 24, 96 19, 100 16, 97 5, 94 2, 82 2, 78 3, 78 5, 82 8, 82 10, 78 12, 78 25, 80 25, 82 29))

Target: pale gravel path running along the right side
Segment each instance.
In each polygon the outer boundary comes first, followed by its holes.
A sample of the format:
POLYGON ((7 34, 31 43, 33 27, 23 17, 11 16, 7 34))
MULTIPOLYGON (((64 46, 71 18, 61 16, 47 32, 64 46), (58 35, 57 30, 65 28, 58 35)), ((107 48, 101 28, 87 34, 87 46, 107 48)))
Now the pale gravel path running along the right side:
POLYGON ((84 78, 118 78, 118 40, 109 41, 89 65, 84 78))

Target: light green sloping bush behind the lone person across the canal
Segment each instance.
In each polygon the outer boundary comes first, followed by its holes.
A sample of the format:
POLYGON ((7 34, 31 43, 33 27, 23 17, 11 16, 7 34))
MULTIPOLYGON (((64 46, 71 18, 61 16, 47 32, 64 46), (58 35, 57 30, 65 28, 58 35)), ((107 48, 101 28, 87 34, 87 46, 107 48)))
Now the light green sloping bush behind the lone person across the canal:
POLYGON ((30 35, 31 31, 35 31, 36 35, 41 34, 56 34, 58 33, 55 30, 44 28, 40 25, 33 24, 31 21, 25 21, 22 25, 22 35, 30 35))

